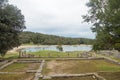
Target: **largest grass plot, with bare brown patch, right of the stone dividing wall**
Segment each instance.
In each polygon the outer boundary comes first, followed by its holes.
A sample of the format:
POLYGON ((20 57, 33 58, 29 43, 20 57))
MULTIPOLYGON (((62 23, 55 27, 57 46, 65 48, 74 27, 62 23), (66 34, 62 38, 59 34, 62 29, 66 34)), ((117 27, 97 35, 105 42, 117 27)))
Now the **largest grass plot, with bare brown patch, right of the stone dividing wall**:
POLYGON ((43 74, 79 74, 99 71, 120 71, 120 66, 105 60, 51 60, 46 63, 43 74))

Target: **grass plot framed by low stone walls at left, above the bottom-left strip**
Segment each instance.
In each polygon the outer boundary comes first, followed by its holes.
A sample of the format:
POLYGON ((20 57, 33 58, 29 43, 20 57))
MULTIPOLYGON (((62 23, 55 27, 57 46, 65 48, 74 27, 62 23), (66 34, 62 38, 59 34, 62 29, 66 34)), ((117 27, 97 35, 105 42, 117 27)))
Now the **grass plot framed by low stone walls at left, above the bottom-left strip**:
POLYGON ((24 72, 26 70, 37 70, 40 63, 13 63, 0 70, 3 72, 24 72))

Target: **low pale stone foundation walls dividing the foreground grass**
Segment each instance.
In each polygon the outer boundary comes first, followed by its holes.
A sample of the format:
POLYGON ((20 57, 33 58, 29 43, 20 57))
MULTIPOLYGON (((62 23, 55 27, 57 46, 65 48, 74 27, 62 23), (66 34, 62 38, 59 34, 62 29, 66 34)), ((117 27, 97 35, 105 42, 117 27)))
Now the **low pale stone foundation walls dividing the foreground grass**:
MULTIPOLYGON (((56 59, 56 60, 106 60, 115 64, 120 65, 120 62, 107 58, 107 57, 101 57, 101 58, 95 58, 95 57, 91 57, 91 58, 64 58, 64 59, 56 59)), ((102 76, 99 76, 97 73, 85 73, 85 74, 57 74, 57 75, 51 75, 51 76, 43 76, 41 74, 44 64, 45 64, 45 60, 12 60, 10 62, 8 62, 7 64, 3 65, 0 67, 0 69, 3 69, 5 67, 7 67, 8 65, 13 64, 14 62, 39 62, 40 67, 38 70, 28 70, 26 71, 27 73, 35 73, 35 77, 34 80, 39 80, 39 78, 43 78, 43 79, 52 79, 52 78, 61 78, 61 77, 86 77, 86 76, 92 76, 95 80, 106 80, 105 78, 103 78, 102 76)), ((23 74, 23 72, 0 72, 0 74, 23 74)))

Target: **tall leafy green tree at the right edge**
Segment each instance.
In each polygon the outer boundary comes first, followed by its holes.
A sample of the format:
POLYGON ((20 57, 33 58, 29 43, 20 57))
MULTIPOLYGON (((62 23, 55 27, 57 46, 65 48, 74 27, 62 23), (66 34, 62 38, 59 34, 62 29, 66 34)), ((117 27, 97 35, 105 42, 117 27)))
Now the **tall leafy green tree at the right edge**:
POLYGON ((96 33, 94 50, 120 50, 120 0, 90 0, 85 22, 91 22, 96 33))

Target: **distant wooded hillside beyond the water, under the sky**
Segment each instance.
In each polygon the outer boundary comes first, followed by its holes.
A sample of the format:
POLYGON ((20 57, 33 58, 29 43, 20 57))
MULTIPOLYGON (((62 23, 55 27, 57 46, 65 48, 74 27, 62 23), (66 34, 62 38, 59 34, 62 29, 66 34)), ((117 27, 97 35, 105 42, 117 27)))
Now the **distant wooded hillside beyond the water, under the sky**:
POLYGON ((76 44, 92 44, 93 39, 87 38, 66 38, 55 35, 47 35, 25 31, 20 33, 21 44, 41 44, 41 45, 76 45, 76 44))

